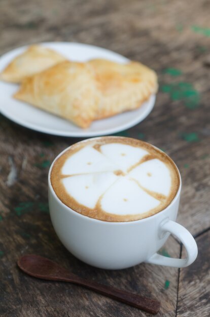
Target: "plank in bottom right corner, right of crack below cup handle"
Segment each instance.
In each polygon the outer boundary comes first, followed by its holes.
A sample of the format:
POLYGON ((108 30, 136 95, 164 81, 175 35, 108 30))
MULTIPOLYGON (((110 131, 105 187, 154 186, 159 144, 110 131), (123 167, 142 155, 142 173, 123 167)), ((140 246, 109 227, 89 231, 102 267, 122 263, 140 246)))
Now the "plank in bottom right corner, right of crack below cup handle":
MULTIPOLYGON (((203 316, 210 312, 210 230, 197 239, 198 257, 180 270, 178 317, 203 316)), ((185 256, 185 251, 183 256, 185 256)))

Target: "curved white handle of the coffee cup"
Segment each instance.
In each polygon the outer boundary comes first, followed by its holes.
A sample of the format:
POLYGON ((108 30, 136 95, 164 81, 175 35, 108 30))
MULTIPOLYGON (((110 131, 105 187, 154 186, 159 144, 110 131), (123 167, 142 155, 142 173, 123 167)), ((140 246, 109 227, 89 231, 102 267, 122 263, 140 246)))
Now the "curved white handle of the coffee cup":
POLYGON ((159 230, 160 239, 166 232, 172 233, 178 237, 186 248, 187 258, 176 259, 155 253, 145 262, 172 267, 186 267, 195 261, 198 254, 198 248, 192 234, 185 227, 172 220, 166 220, 160 224, 159 230))

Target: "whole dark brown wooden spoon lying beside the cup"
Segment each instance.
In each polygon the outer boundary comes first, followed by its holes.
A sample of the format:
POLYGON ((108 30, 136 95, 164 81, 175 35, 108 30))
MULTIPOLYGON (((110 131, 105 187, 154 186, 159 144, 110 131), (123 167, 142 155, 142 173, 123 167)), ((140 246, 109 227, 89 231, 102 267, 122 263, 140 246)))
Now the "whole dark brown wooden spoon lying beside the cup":
POLYGON ((78 284, 153 314, 156 314, 160 308, 160 302, 157 300, 82 279, 55 262, 39 255, 24 255, 18 260, 17 264, 25 273, 38 279, 78 284))

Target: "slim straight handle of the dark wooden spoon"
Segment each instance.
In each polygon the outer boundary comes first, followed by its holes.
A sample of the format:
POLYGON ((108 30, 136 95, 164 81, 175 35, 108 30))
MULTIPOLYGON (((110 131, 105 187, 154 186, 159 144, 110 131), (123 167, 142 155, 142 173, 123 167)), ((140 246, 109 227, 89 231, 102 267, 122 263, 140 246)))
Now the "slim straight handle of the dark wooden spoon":
MULTIPOLYGON (((67 278, 62 279, 62 281, 66 281, 66 282, 67 280, 68 280, 67 278)), ((142 309, 152 314, 156 314, 160 308, 160 302, 155 299, 143 297, 141 295, 129 293, 126 291, 118 290, 113 287, 109 287, 109 286, 98 284, 89 280, 81 279, 79 276, 78 276, 78 279, 75 280, 73 283, 84 286, 102 295, 106 295, 115 300, 123 302, 127 305, 142 309)))

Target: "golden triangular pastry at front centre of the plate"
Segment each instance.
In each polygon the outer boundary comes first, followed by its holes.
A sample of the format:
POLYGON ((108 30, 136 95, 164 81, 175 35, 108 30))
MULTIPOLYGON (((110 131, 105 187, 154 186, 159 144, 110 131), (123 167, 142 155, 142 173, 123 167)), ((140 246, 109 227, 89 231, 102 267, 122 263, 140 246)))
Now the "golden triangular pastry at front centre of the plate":
POLYGON ((93 68, 64 61, 26 78, 15 98, 87 128, 98 108, 93 68))

